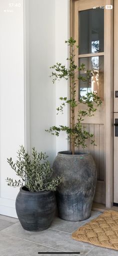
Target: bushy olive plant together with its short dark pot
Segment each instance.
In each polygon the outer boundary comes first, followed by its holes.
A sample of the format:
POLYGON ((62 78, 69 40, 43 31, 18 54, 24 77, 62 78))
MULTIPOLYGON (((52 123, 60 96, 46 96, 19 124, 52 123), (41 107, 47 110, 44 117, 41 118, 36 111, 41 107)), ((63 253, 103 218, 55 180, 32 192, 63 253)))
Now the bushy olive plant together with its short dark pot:
POLYGON ((7 185, 20 187, 15 208, 20 224, 28 231, 41 231, 48 228, 54 218, 56 200, 54 191, 61 182, 60 177, 52 177, 45 153, 37 153, 32 148, 32 156, 20 146, 17 158, 7 159, 10 167, 21 178, 18 181, 8 178, 7 185))

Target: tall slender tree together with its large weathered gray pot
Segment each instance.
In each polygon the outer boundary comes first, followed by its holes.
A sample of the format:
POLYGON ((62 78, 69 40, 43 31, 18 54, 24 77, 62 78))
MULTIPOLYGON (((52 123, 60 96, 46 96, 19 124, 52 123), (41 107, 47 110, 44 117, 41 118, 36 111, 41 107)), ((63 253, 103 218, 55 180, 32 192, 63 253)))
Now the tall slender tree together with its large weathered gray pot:
MULTIPOLYGON (((75 147, 79 145, 84 149, 86 140, 89 139, 94 144, 93 134, 89 134, 85 127, 81 124, 85 116, 92 116, 96 108, 101 104, 101 100, 95 92, 86 93, 76 100, 76 83, 78 80, 90 81, 91 71, 85 70, 85 65, 76 66, 74 62, 75 40, 70 38, 65 41, 70 48, 69 68, 61 63, 53 65, 53 71, 50 77, 53 83, 56 80, 65 79, 69 81, 70 98, 60 97, 60 106, 57 113, 63 112, 63 107, 67 104, 70 106, 70 126, 59 125, 52 126, 46 132, 58 136, 60 132, 67 134, 70 151, 59 152, 53 162, 53 170, 55 175, 63 175, 62 182, 59 184, 56 200, 58 207, 58 215, 65 220, 78 221, 86 219, 90 216, 93 196, 96 185, 96 167, 90 153, 75 151, 75 147), (85 71, 86 78, 80 75, 81 71, 85 71), (85 110, 80 109, 84 104, 85 110), (79 105, 79 107, 78 107, 79 105), (75 109, 77 109, 77 120, 75 120, 75 109)), ((94 144, 95 145, 95 144, 94 144)))

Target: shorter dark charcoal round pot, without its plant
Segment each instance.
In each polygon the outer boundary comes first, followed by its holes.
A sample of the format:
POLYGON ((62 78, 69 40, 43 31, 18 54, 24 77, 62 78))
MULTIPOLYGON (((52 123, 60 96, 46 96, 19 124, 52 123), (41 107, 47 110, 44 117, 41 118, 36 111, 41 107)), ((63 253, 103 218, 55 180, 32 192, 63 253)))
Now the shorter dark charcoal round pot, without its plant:
POLYGON ((28 231, 48 228, 55 216, 56 200, 53 191, 26 191, 21 187, 15 201, 20 224, 28 231))

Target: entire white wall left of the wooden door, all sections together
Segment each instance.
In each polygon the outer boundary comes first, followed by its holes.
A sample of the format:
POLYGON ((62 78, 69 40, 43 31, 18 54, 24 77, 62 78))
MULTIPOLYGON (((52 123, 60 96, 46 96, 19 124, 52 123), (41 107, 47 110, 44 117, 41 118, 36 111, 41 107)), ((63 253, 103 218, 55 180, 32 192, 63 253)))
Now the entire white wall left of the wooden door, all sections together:
POLYGON ((18 0, 21 6, 12 8, 8 3, 0 0, 0 214, 16 217, 19 189, 6 185, 7 176, 16 178, 6 158, 15 161, 21 144, 45 151, 51 163, 67 149, 63 134, 56 139, 44 130, 67 125, 67 109, 56 115, 67 82, 53 85, 49 66, 67 65, 69 0, 18 0))

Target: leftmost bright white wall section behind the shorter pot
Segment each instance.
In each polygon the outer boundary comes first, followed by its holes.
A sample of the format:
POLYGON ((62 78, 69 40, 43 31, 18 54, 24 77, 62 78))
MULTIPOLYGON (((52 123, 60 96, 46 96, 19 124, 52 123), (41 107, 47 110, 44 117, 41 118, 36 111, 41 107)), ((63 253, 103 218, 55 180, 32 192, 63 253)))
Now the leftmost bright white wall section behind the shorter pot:
POLYGON ((15 177, 6 158, 16 160, 24 145, 23 0, 20 7, 8 3, 0 0, 0 214, 15 217, 19 189, 8 187, 5 179, 15 177))

